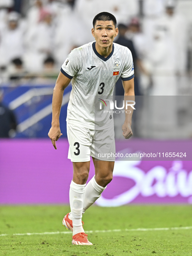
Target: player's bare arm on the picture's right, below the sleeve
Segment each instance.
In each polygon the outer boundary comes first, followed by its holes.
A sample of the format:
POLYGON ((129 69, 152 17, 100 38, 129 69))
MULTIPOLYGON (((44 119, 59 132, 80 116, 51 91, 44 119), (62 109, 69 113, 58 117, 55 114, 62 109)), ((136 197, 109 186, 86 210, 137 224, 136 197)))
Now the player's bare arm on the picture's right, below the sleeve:
MULTIPOLYGON (((134 78, 128 80, 128 81, 122 81, 123 88, 124 88, 124 101, 134 101, 134 78)), ((125 104, 126 105, 126 104, 125 104)), ((127 106, 127 109, 125 109, 125 122, 122 125, 122 131, 123 136, 125 139, 129 139, 132 135, 132 129, 131 129, 131 120, 133 115, 133 108, 131 106, 127 106), (127 111, 127 113, 126 113, 127 111)))

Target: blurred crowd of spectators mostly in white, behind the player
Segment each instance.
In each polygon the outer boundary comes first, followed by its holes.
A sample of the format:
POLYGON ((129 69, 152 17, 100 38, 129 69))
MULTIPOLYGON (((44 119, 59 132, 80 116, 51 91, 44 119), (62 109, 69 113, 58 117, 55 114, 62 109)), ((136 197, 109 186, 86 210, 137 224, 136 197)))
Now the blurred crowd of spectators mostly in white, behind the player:
POLYGON ((132 51, 136 95, 177 95, 178 76, 192 70, 192 0, 0 0, 1 81, 57 76, 73 48, 94 41, 101 11, 132 51))

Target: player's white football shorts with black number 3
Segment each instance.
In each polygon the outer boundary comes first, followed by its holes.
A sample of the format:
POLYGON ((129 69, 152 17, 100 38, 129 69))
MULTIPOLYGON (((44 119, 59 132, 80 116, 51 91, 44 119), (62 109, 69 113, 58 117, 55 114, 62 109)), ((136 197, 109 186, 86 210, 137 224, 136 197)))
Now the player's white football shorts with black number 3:
POLYGON ((91 130, 67 122, 67 137, 71 162, 88 162, 90 155, 98 160, 115 161, 114 127, 91 130))

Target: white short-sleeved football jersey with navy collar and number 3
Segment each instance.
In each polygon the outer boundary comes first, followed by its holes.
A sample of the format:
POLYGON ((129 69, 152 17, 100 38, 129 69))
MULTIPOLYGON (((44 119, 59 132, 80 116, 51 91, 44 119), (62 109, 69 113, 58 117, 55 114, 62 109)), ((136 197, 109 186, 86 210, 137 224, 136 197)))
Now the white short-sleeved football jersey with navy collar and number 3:
MULTIPOLYGON (((131 51, 113 43, 107 58, 101 56, 91 42, 70 52, 62 65, 61 72, 72 79, 72 91, 67 109, 67 122, 93 130, 111 126, 111 116, 95 118, 95 96, 102 100, 112 97, 115 83, 134 77, 131 51), (98 119, 98 120, 96 120, 98 119)), ((99 101, 98 108, 99 108, 99 101)), ((109 113, 110 114, 110 113, 109 113)))

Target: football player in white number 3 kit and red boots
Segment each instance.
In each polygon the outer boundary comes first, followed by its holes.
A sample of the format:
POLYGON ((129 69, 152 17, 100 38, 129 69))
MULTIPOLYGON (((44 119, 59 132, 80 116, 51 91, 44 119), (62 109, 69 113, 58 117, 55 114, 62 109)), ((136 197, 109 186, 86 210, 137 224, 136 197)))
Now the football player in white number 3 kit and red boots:
MULTIPOLYGON (((48 133, 55 149, 62 135, 59 114, 64 89, 72 79, 72 91, 67 111, 68 158, 73 162, 73 180, 70 184, 70 209, 63 225, 73 232, 72 244, 92 245, 82 226, 82 214, 106 189, 112 180, 115 158, 98 157, 99 150, 115 153, 112 116, 101 114, 95 119, 95 96, 110 97, 121 76, 125 96, 134 95, 134 68, 130 50, 113 43, 118 34, 115 17, 108 12, 97 14, 93 20, 92 35, 95 41, 75 48, 63 63, 53 92, 52 127, 48 133), (117 68, 118 67, 118 68, 117 68), (118 70, 118 71, 117 71, 118 70), (90 155, 95 166, 95 176, 88 182, 90 155)), ((102 99, 101 99, 102 100, 102 99)), ((100 102, 98 101, 98 104, 100 102)), ((102 111, 103 113, 104 111, 102 111)), ((125 115, 122 126, 125 139, 133 133, 132 114, 125 115)))

